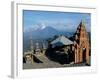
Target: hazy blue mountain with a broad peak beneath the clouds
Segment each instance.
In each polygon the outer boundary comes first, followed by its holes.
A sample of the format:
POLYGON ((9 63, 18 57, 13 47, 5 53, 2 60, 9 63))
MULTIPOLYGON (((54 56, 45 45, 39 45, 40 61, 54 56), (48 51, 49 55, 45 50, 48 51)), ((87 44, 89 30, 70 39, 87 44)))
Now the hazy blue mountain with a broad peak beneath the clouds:
MULTIPOLYGON (((33 39, 47 39, 47 38, 53 38, 55 35, 65 35, 70 36, 72 33, 70 32, 64 32, 64 31, 58 31, 50 26, 47 26, 43 29, 37 29, 32 31, 32 37, 33 39)), ((30 32, 24 32, 24 38, 30 37, 30 32)))

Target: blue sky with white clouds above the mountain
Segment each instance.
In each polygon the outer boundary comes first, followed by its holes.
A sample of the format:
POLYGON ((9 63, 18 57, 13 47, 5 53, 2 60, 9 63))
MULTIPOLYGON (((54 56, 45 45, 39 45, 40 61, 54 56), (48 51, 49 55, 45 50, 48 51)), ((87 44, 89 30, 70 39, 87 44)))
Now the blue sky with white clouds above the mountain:
POLYGON ((75 12, 23 10, 24 31, 44 29, 48 26, 60 31, 76 31, 83 21, 87 32, 90 32, 91 14, 75 12))

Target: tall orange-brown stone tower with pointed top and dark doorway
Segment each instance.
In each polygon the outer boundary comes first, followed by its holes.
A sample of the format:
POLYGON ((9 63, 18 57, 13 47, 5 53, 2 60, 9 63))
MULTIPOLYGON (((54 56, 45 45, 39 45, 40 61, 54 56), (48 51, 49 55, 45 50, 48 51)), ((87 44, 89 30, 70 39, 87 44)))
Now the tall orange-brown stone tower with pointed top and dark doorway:
POLYGON ((89 38, 82 21, 80 22, 74 36, 75 63, 86 62, 89 64, 89 38))

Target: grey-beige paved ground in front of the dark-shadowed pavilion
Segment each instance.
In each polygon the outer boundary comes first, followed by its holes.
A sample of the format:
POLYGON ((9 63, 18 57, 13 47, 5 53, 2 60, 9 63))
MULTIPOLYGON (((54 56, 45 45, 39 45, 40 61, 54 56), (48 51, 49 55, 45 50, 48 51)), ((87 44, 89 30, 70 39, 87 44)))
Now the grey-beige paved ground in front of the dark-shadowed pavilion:
POLYGON ((40 68, 60 68, 60 67, 74 67, 74 66, 86 66, 85 63, 80 64, 60 64, 49 60, 45 55, 37 55, 37 58, 43 63, 24 63, 23 69, 40 69, 40 68))

